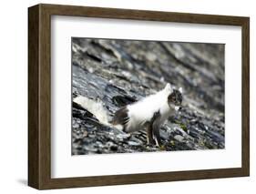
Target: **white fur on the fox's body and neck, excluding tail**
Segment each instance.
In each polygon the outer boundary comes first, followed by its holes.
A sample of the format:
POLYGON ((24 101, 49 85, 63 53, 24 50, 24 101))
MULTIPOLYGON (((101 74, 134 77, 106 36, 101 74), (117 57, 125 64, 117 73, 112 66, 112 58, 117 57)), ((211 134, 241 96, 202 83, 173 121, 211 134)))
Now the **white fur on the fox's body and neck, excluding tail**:
POLYGON ((149 121, 153 114, 160 111, 161 123, 164 122, 174 109, 168 105, 168 96, 173 91, 170 84, 157 94, 143 98, 142 100, 128 105, 128 126, 127 131, 133 132, 143 128, 145 122, 149 121))

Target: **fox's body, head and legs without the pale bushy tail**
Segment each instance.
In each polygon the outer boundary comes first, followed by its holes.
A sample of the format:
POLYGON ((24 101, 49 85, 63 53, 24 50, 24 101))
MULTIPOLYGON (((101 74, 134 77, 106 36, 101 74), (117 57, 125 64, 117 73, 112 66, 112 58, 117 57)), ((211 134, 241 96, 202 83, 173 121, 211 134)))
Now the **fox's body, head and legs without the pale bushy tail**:
MULTIPOLYGON (((182 89, 174 89, 167 84, 167 86, 160 90, 157 94, 145 97, 136 103, 121 107, 115 113, 112 124, 123 126, 125 132, 134 132, 145 127, 150 132, 148 134, 148 141, 152 141, 153 136, 159 134, 160 126, 165 120, 172 115, 175 110, 179 110, 182 102, 182 89), (153 131, 153 135, 150 134, 153 131), (152 137, 151 137, 152 136, 152 137)), ((159 135, 157 135, 157 144, 159 144, 159 135)))

